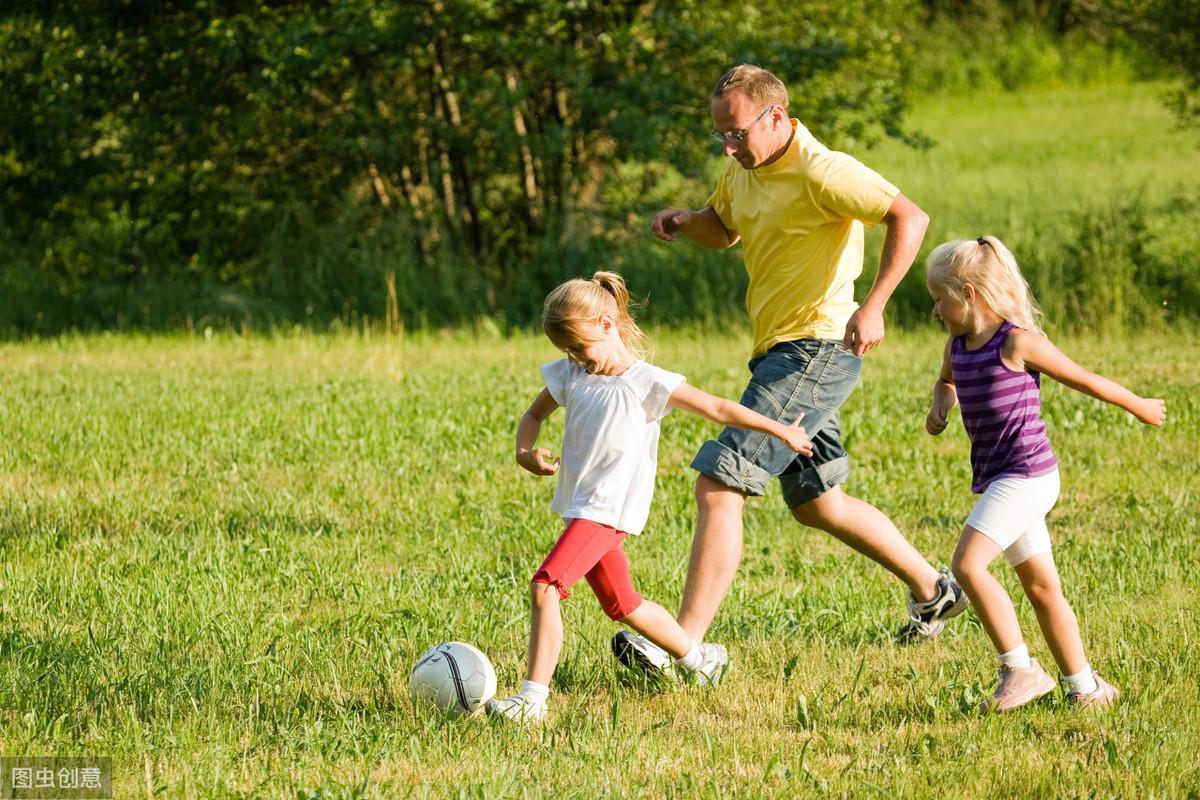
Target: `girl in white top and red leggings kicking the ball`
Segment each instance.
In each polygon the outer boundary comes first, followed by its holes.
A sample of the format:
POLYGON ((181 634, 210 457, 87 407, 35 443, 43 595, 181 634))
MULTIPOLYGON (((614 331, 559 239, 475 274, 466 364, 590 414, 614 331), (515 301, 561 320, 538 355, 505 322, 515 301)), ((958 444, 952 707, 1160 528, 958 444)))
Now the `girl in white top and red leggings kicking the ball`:
POLYGON ((673 656, 677 674, 716 682, 728 656, 719 644, 684 633, 661 606, 634 590, 622 547, 649 513, 658 463, 659 420, 672 408, 719 425, 760 431, 811 455, 800 420, 785 425, 739 403, 713 397, 642 360, 644 335, 629 313, 625 282, 613 272, 577 278, 546 297, 542 329, 565 359, 541 368, 546 387, 517 427, 517 463, 534 475, 558 475, 551 509, 566 529, 530 583, 532 630, 520 693, 492 700, 490 714, 521 722, 546 717, 550 679, 563 648, 559 602, 581 577, 605 613, 673 656), (536 447, 541 423, 566 409, 562 458, 536 447))

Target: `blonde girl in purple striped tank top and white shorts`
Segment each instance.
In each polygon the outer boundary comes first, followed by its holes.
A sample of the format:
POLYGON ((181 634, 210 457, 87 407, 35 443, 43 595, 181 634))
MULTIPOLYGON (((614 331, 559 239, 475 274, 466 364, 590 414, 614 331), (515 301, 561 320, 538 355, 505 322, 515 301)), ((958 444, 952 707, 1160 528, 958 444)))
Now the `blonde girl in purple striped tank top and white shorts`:
POLYGON ((1160 399, 1147 399, 1084 369, 1051 344, 1016 259, 994 236, 950 241, 929 255, 934 314, 950 333, 925 429, 937 435, 956 404, 971 439, 971 491, 979 498, 954 552, 953 569, 1000 654, 1000 684, 985 710, 1008 711, 1055 687, 1021 636, 1013 601, 988 565, 1001 553, 1016 570, 1067 684, 1067 700, 1104 706, 1117 690, 1092 672, 1075 613, 1062 595, 1045 516, 1058 498, 1058 464, 1040 416, 1046 374, 1112 403, 1146 425, 1162 425, 1160 399))

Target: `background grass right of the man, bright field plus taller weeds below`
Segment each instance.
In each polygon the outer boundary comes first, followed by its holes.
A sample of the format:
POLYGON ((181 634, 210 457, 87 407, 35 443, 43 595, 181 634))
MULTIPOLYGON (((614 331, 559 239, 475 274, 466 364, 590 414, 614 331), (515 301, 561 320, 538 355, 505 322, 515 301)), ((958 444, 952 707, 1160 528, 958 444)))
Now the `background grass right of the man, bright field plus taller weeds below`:
MULTIPOLYGON (((952 239, 1000 236, 1051 330, 1188 324, 1200 302, 1200 136, 1164 108, 1160 83, 929 97, 895 142, 856 154, 930 215, 913 271, 952 239)), ((866 275, 883 229, 869 233, 866 275)), ((860 296, 870 287, 859 284, 860 296)), ((898 319, 925 314, 924 282, 901 287, 898 319)))

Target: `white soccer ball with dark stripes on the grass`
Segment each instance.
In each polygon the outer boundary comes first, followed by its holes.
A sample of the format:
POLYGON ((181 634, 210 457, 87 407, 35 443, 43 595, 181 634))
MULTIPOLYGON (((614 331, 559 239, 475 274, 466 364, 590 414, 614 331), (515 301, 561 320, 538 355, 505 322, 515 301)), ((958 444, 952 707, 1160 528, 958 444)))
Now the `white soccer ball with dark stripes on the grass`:
POLYGON ((476 648, 443 642, 416 661, 408 690, 416 700, 432 703, 450 716, 472 716, 496 694, 496 670, 476 648))

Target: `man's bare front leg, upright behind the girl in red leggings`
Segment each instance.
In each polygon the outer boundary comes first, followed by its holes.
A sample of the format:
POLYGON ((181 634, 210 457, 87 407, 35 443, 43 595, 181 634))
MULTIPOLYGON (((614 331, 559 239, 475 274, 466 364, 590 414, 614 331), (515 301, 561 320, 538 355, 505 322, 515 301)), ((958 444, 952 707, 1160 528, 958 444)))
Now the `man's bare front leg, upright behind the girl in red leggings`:
POLYGON ((679 626, 697 642, 721 607, 742 560, 745 495, 707 475, 696 479, 696 535, 679 603, 679 626))

